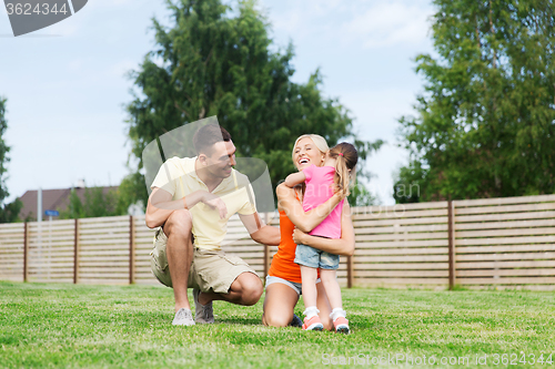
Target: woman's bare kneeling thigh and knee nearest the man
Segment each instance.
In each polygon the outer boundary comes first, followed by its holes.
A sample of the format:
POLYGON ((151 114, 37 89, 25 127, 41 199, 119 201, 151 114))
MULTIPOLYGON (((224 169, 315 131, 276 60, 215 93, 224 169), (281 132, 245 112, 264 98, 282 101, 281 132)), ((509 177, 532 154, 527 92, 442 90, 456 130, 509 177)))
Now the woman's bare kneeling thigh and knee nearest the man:
POLYGON ((271 284, 266 287, 262 322, 270 327, 286 327, 293 320, 293 309, 299 295, 284 284, 271 284))

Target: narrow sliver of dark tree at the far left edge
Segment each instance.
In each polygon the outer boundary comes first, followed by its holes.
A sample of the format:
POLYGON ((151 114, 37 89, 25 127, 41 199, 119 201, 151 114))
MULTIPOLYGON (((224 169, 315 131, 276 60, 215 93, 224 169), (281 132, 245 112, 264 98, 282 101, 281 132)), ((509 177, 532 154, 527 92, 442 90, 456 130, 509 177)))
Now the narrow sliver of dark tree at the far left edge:
POLYGON ((8 121, 6 120, 6 102, 7 99, 0 96, 0 223, 11 223, 18 221, 19 212, 23 207, 23 203, 16 198, 12 203, 6 204, 4 199, 10 194, 6 186, 8 168, 6 165, 10 162, 8 153, 10 147, 3 141, 6 130, 8 130, 8 121))

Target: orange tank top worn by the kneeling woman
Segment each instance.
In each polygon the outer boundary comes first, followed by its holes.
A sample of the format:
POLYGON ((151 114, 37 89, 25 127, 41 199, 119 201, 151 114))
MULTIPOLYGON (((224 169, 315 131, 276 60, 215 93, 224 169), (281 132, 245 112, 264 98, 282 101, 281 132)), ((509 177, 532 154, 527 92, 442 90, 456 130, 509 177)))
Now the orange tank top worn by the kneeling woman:
POLYGON ((296 244, 293 242, 294 228, 295 225, 287 218, 285 212, 280 211, 281 242, 268 274, 273 277, 280 277, 300 284, 302 283, 301 268, 293 262, 296 250, 296 244))

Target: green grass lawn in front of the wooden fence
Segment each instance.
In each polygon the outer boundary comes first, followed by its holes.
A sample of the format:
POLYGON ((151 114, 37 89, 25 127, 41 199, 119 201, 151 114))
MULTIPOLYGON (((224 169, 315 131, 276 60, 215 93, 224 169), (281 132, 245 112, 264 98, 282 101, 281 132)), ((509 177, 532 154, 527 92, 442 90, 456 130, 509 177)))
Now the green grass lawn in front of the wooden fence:
POLYGON ((263 327, 262 299, 218 301, 216 324, 173 327, 165 287, 0 283, 0 367, 304 368, 349 357, 354 365, 354 356, 356 367, 375 367, 379 357, 383 367, 447 367, 442 358, 458 357, 468 363, 453 367, 529 366, 524 353, 534 367, 555 368, 553 293, 355 288, 343 299, 350 336, 263 327))

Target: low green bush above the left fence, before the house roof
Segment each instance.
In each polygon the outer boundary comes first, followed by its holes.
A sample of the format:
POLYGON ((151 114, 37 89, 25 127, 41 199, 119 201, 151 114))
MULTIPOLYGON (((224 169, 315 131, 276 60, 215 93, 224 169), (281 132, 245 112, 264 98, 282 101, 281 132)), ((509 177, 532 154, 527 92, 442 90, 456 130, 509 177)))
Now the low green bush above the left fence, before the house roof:
POLYGON ((84 202, 75 189, 71 191, 69 205, 60 211, 60 219, 75 219, 127 214, 127 208, 118 207, 118 194, 113 191, 103 193, 102 187, 84 188, 84 202))

